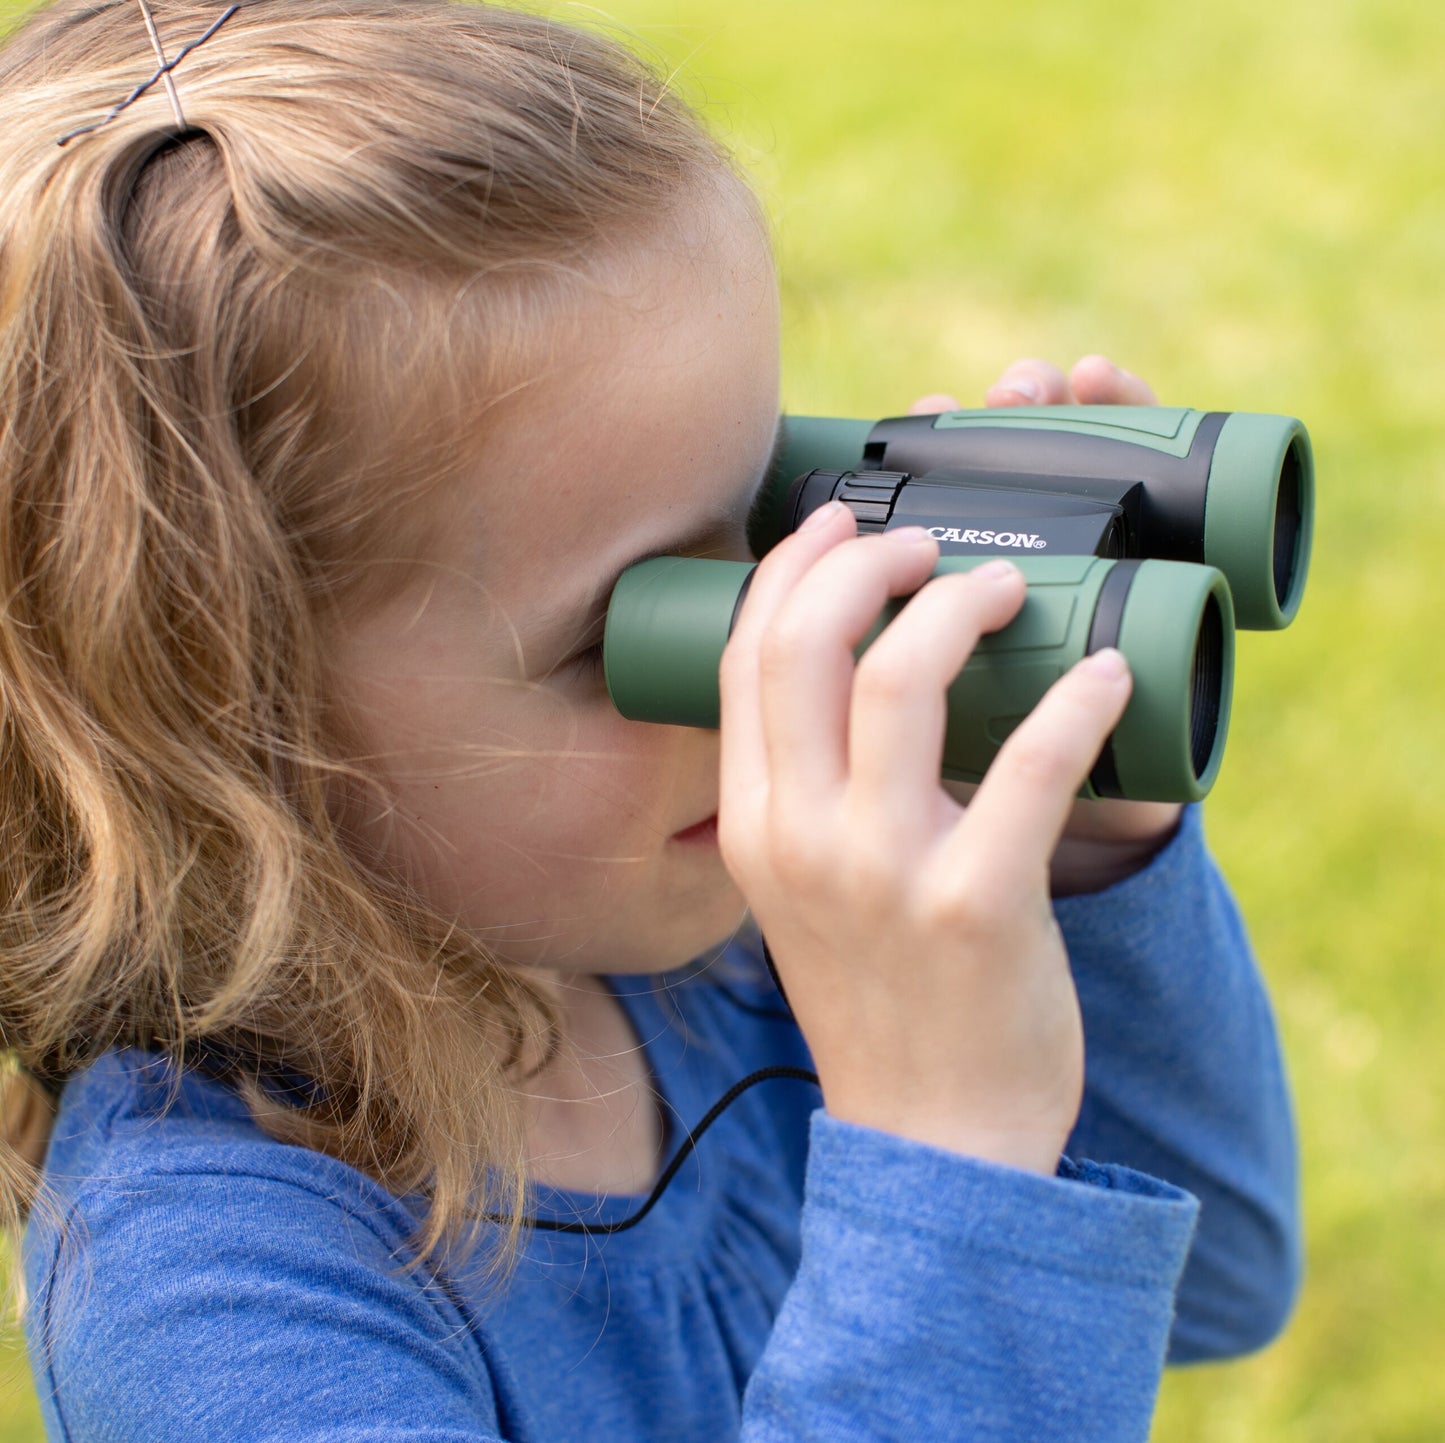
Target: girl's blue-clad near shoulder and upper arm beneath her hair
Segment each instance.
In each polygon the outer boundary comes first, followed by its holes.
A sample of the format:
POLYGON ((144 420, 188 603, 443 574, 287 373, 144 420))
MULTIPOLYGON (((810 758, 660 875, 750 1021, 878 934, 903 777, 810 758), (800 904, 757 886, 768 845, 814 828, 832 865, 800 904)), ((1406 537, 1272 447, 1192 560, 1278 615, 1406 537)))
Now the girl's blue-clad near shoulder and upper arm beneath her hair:
POLYGON ((266 1137, 224 1085, 101 1059, 66 1086, 46 1186, 25 1239, 27 1333, 58 1436, 400 1427, 412 1404, 390 1379, 486 1421, 471 1320, 407 1265, 402 1200, 266 1137), (347 1365, 383 1385, 338 1394, 347 1365))

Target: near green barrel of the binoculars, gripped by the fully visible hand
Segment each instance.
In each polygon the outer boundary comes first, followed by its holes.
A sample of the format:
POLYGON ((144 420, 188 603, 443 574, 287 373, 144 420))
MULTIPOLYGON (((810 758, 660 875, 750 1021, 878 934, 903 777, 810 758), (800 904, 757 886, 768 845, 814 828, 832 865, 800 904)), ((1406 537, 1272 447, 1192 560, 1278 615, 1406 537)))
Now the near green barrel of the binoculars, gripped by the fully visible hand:
MULTIPOLYGON (((933 575, 987 558, 945 556, 933 575)), ((1134 677, 1085 797, 1192 802, 1214 784, 1228 732, 1234 608, 1221 572, 1165 560, 1020 556, 1019 615, 985 636, 948 688, 942 774, 977 781, 1014 727, 1084 656, 1117 646, 1134 677)), ((753 568, 663 556, 623 573, 604 666, 613 703, 634 721, 718 725, 718 664, 753 568)), ((890 601, 857 654, 897 615, 890 601)))

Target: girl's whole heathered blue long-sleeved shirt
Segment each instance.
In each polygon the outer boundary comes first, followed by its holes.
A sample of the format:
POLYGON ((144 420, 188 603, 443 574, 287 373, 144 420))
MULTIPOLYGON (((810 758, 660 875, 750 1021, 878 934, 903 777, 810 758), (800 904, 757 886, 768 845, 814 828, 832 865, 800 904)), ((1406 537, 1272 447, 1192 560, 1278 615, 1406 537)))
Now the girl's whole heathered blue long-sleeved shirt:
MULTIPOLYGON (((267 1140, 217 1082, 105 1056, 66 1088, 52 1143, 64 1225, 26 1238, 51 1436, 1144 1439, 1166 1346, 1248 1349, 1289 1309, 1289 1106, 1196 815, 1144 872, 1058 914, 1088 1037, 1071 1154, 1100 1164, 955 1157, 770 1082, 639 1228, 529 1234, 504 1290, 477 1262, 407 1270, 403 1200, 267 1140)), ((740 948, 708 978, 614 982, 673 1144, 744 1073, 808 1062, 756 974, 740 948)), ((538 1212, 634 1206, 551 1192, 538 1212)))

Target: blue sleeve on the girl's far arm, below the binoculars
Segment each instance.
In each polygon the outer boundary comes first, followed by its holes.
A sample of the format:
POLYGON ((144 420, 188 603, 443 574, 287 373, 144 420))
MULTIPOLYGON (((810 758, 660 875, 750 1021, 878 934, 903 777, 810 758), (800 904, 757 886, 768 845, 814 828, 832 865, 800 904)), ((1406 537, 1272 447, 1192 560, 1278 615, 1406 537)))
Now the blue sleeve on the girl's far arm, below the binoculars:
POLYGON ((1299 1284, 1295 1130, 1269 998, 1199 809, 1144 871, 1055 910, 1087 1046, 1068 1151, 1199 1199, 1170 1361, 1263 1346, 1299 1284))

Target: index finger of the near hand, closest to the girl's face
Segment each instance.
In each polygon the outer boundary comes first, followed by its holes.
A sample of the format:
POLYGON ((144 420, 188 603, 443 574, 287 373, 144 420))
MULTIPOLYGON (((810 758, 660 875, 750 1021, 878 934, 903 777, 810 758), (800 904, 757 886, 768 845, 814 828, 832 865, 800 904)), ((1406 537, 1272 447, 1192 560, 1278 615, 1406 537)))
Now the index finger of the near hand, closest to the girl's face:
MULTIPOLYGON (((799 530, 785 536, 757 563, 733 634, 718 667, 718 715, 722 728, 720 820, 751 809, 767 794, 767 747, 763 737, 757 647, 779 607, 819 556, 857 533, 853 513, 838 501, 821 507, 799 530)), ((744 826, 749 823, 744 820, 744 826)))

